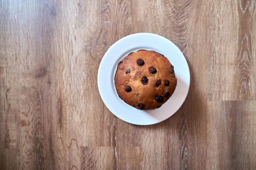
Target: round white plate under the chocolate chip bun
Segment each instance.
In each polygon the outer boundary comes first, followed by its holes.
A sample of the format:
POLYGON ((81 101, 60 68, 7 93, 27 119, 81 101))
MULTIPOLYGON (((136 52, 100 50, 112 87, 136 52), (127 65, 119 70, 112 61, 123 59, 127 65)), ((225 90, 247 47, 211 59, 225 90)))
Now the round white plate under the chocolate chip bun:
POLYGON ((102 101, 116 117, 136 125, 157 124, 171 117, 184 103, 189 90, 188 63, 172 41, 150 33, 131 34, 114 43, 102 58, 98 71, 98 87, 102 101), (156 110, 137 110, 126 104, 115 89, 115 72, 118 62, 137 50, 154 50, 163 54, 173 64, 177 87, 170 99, 156 110))

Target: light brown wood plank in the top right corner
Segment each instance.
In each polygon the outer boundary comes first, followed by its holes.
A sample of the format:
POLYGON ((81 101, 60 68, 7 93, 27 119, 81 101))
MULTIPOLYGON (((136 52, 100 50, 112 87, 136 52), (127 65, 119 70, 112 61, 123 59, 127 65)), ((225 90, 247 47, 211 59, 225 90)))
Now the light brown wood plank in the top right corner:
POLYGON ((210 99, 255 100, 255 6, 255 1, 212 4, 211 10, 220 12, 212 13, 215 24, 209 25, 209 36, 214 37, 210 40, 210 99))

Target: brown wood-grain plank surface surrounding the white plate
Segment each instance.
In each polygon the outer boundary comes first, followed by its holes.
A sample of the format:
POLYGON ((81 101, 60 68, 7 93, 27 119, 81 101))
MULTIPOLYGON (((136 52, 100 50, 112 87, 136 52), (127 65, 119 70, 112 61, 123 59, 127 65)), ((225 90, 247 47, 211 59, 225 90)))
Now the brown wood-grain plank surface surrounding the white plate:
POLYGON ((256 2, 0 1, 0 169, 256 169, 256 2), (118 39, 179 46, 189 94, 138 126, 102 102, 118 39))

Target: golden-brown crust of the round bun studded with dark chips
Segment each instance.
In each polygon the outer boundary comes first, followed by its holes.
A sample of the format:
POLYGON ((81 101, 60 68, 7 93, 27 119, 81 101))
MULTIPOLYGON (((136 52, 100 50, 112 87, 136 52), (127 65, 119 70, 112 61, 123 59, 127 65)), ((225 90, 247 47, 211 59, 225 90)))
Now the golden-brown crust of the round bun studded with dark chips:
POLYGON ((159 108, 172 96, 176 85, 177 78, 175 77, 173 66, 161 53, 139 50, 138 52, 130 53, 118 63, 115 74, 115 87, 118 96, 125 103, 137 109, 152 110, 159 108), (137 63, 138 59, 144 61, 143 66, 137 63), (152 67, 156 70, 152 69, 152 67), (141 82, 143 77, 147 77, 147 79, 145 78, 141 82), (161 85, 156 87, 158 80, 161 80, 161 85), (167 80, 170 81, 169 85, 166 83, 168 86, 164 85, 167 80), (167 92, 170 93, 168 97, 166 97, 167 92), (156 99, 157 96, 162 97, 156 99), (161 99, 163 99, 163 102, 161 99))

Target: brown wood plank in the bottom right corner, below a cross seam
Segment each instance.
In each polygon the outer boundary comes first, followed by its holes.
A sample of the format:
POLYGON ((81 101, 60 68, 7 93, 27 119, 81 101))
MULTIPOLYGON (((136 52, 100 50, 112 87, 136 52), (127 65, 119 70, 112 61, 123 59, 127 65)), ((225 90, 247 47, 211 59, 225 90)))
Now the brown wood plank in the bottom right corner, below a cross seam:
POLYGON ((255 101, 209 103, 207 169, 255 169, 255 101))

